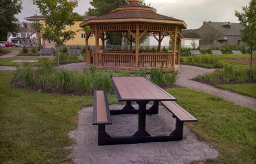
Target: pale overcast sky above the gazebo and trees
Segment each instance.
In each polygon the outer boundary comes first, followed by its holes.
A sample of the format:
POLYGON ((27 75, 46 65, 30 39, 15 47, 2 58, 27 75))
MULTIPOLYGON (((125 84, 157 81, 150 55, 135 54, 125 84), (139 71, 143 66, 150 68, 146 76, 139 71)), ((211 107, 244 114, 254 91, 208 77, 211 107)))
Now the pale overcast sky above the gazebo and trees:
MULTIPOLYGON (((248 5, 250 0, 145 0, 158 13, 177 19, 182 19, 188 28, 200 28, 203 21, 238 22, 234 11, 241 11, 242 6, 248 5)), ((89 0, 79 0, 75 11, 83 15, 90 7, 89 0)), ((22 13, 17 15, 20 22, 24 17, 35 15, 39 11, 32 0, 22 0, 22 13)))

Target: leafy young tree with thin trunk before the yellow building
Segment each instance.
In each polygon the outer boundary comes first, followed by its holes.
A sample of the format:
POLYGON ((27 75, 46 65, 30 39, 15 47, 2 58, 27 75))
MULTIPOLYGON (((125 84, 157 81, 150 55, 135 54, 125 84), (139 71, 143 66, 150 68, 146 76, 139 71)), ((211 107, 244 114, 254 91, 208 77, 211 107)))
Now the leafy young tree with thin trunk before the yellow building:
POLYGON ((78 13, 73 13, 77 7, 78 1, 73 0, 33 0, 34 5, 38 6, 40 13, 44 16, 45 25, 34 25, 37 31, 42 32, 43 38, 49 38, 55 42, 57 49, 57 59, 59 66, 59 46, 62 46, 67 40, 75 38, 75 32, 66 30, 66 26, 72 26, 82 17, 78 13))

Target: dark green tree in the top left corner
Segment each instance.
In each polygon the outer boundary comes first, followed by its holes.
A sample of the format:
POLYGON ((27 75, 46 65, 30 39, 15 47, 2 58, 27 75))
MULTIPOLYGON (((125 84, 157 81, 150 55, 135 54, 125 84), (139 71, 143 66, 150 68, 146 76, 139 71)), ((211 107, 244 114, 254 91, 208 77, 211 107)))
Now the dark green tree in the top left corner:
POLYGON ((21 0, 0 1, 0 40, 7 40, 9 34, 18 32, 19 21, 15 17, 22 9, 21 0))

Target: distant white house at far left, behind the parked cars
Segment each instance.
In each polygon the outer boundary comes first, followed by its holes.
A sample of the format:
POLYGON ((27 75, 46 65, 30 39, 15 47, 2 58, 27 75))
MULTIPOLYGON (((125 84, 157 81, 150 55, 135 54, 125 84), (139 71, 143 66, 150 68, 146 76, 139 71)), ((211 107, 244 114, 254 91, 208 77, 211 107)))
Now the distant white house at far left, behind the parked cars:
POLYGON ((36 31, 32 29, 32 24, 20 24, 18 33, 9 35, 7 41, 22 46, 36 46, 36 31))

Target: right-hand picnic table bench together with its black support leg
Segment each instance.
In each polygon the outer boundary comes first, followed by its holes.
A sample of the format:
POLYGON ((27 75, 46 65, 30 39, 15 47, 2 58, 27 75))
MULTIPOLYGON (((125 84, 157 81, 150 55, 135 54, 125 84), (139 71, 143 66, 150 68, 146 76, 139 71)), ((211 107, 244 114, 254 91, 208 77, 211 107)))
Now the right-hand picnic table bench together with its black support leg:
POLYGON ((172 134, 177 135, 177 140, 182 140, 183 122, 197 122, 197 119, 174 101, 161 101, 161 103, 173 114, 172 117, 176 118, 176 126, 172 134))

